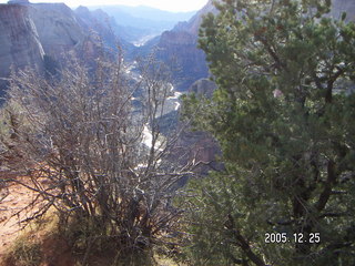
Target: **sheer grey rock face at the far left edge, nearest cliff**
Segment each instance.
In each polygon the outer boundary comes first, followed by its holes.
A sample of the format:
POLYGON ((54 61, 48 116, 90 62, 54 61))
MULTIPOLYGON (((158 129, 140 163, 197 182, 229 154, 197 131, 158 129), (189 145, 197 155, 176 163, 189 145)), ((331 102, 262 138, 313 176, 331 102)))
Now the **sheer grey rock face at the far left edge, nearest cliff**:
MULTIPOLYGON (((27 65, 43 70, 44 51, 29 8, 18 4, 0 4, 0 78, 7 78, 10 66, 27 65)), ((0 81, 3 91, 6 82, 0 81)))

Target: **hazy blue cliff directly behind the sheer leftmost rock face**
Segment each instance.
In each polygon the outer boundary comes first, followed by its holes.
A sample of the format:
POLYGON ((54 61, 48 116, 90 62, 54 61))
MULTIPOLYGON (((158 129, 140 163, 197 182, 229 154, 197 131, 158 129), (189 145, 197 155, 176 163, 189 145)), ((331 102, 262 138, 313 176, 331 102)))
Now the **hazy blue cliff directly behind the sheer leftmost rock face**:
POLYGON ((116 38, 114 21, 102 10, 89 11, 79 7, 73 11, 64 3, 36 3, 30 7, 45 54, 58 61, 63 61, 69 51, 91 62, 102 49, 111 53, 118 43, 125 50, 131 48, 116 38))

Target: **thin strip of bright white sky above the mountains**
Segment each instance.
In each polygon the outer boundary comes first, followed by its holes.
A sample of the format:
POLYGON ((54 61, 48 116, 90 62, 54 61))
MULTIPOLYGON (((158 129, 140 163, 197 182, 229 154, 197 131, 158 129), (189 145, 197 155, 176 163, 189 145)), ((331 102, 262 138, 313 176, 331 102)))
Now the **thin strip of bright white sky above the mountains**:
MULTIPOLYGON (((6 3, 8 0, 0 0, 6 3)), ((78 6, 125 4, 149 6, 170 11, 192 11, 201 9, 207 0, 30 0, 30 2, 64 2, 71 8, 78 6)))

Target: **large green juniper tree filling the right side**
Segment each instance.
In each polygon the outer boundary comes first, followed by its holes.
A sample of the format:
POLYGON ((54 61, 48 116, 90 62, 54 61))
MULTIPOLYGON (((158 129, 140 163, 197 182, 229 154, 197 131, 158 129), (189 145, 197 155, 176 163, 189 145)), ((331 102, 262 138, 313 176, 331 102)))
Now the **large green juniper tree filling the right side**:
POLYGON ((184 110, 220 142, 225 170, 191 182, 189 258, 354 265, 355 24, 331 18, 329 0, 216 7, 200 47, 219 89, 184 110))

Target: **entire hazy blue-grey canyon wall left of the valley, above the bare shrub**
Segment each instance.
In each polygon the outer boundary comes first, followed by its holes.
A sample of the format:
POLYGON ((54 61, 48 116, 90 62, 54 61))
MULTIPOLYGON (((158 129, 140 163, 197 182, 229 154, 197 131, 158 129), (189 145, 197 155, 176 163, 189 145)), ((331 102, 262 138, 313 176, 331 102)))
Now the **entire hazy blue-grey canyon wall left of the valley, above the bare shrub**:
MULTIPOLYGON (((64 3, 29 3, 13 0, 0 4, 0 94, 7 86, 10 66, 31 66, 43 74, 74 53, 85 63, 115 48, 116 35, 103 11, 74 12, 64 3)), ((130 50, 133 45, 118 40, 130 50)), ((55 68, 54 68, 55 69, 55 68)))

